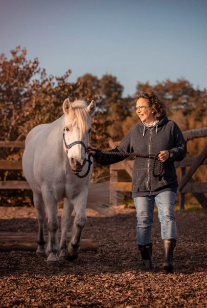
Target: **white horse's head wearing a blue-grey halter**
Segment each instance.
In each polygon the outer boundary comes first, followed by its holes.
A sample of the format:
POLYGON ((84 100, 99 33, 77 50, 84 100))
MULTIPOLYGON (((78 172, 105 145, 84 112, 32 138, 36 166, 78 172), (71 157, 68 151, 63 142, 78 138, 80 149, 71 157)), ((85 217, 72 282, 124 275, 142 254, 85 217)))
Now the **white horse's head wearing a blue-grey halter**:
POLYGON ((96 103, 92 101, 88 106, 84 101, 63 103, 65 114, 63 127, 63 146, 67 152, 71 169, 79 172, 86 162, 86 149, 89 145, 91 132, 91 118, 95 114, 96 103))

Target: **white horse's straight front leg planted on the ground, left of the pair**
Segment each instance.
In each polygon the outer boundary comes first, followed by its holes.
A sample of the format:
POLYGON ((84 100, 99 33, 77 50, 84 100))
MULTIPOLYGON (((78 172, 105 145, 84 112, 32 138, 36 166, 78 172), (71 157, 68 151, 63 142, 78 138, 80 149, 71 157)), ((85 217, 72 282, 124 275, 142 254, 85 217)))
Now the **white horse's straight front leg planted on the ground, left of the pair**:
POLYGON ((47 206, 48 212, 48 230, 49 230, 49 241, 47 246, 47 263, 57 264, 59 262, 58 252, 58 218, 57 218, 57 201, 54 197, 53 189, 46 187, 42 191, 44 204, 47 206))

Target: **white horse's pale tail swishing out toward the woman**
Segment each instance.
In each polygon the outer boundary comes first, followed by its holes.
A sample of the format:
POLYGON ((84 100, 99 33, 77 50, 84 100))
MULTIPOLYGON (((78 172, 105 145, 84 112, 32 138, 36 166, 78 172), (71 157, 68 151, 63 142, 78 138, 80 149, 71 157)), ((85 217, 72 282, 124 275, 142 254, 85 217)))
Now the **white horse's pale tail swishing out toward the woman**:
POLYGON ((117 193, 117 188, 110 181, 90 183, 86 207, 111 216, 114 211, 113 205, 119 203, 121 197, 122 195, 117 193))

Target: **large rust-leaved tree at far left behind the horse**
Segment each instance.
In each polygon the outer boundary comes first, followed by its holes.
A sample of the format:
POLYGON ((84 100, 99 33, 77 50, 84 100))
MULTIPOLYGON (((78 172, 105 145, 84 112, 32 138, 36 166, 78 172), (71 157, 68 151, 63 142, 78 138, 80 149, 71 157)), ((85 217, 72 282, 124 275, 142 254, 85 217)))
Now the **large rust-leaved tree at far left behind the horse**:
POLYGON ((53 78, 48 79, 45 71, 40 70, 38 59, 26 59, 26 49, 17 47, 11 54, 10 60, 4 54, 0 56, 1 139, 19 141, 42 121, 41 101, 50 101, 48 92, 53 78))

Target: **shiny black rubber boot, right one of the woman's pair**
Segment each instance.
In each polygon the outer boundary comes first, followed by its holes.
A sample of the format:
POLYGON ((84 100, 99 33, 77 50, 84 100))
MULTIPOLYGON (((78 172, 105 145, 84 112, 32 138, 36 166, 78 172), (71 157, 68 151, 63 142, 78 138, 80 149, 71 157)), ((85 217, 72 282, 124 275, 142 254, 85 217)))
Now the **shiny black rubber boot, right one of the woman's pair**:
POLYGON ((164 239, 163 240, 163 248, 164 248, 164 263, 163 268, 166 272, 172 273, 173 266, 173 251, 176 245, 175 239, 164 239))

